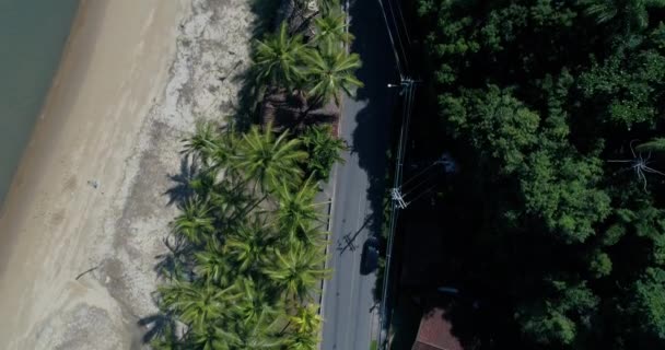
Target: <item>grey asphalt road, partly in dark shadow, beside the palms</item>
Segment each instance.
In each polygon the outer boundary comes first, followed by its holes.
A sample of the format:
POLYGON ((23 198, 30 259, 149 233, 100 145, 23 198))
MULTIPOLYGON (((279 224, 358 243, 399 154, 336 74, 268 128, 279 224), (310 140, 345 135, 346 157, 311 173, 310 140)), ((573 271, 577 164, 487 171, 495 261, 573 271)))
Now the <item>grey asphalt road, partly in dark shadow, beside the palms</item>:
POLYGON ((350 14, 351 50, 363 60, 357 75, 365 86, 343 100, 340 133, 351 150, 335 178, 328 255, 334 273, 324 284, 324 350, 368 350, 377 326, 376 276, 361 275, 360 264, 368 236, 380 235, 389 119, 398 97, 387 88, 398 83, 398 74, 377 1, 358 0, 350 14))

